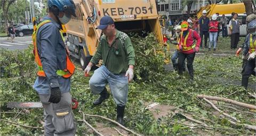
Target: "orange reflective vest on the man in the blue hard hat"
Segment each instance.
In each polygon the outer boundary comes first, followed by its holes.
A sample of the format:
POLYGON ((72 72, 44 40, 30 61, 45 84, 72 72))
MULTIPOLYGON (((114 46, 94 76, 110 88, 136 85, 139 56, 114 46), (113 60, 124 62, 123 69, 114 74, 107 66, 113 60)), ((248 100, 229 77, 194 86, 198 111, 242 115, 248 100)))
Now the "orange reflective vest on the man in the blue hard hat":
MULTIPOLYGON (((32 38, 33 38, 33 44, 34 44, 34 55, 35 55, 35 62, 38 65, 38 71, 37 71, 37 75, 39 77, 46 77, 45 73, 43 71, 43 66, 38 54, 38 50, 37 50, 37 44, 36 44, 36 35, 37 35, 37 30, 44 24, 46 23, 50 23, 51 20, 44 20, 41 23, 39 23, 35 29, 35 31, 33 32, 32 38)), ((62 35, 62 32, 60 31, 60 35, 62 37, 62 40, 65 41, 65 38, 62 35)), ((56 74, 62 76, 63 78, 69 78, 72 76, 72 74, 74 74, 75 72, 75 65, 71 62, 71 60, 69 59, 68 55, 66 57, 66 69, 64 70, 57 70, 56 74)))

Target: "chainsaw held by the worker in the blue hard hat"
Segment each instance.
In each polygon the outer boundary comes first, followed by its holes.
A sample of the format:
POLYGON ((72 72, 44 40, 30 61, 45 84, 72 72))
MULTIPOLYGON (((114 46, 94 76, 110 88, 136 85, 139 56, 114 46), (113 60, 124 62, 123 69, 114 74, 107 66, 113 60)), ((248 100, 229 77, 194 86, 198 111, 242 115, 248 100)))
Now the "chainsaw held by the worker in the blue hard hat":
MULTIPOLYGON (((78 101, 76 98, 72 98, 72 109, 76 109, 78 101)), ((43 104, 40 102, 10 102, 7 104, 8 108, 43 108, 43 104)))

